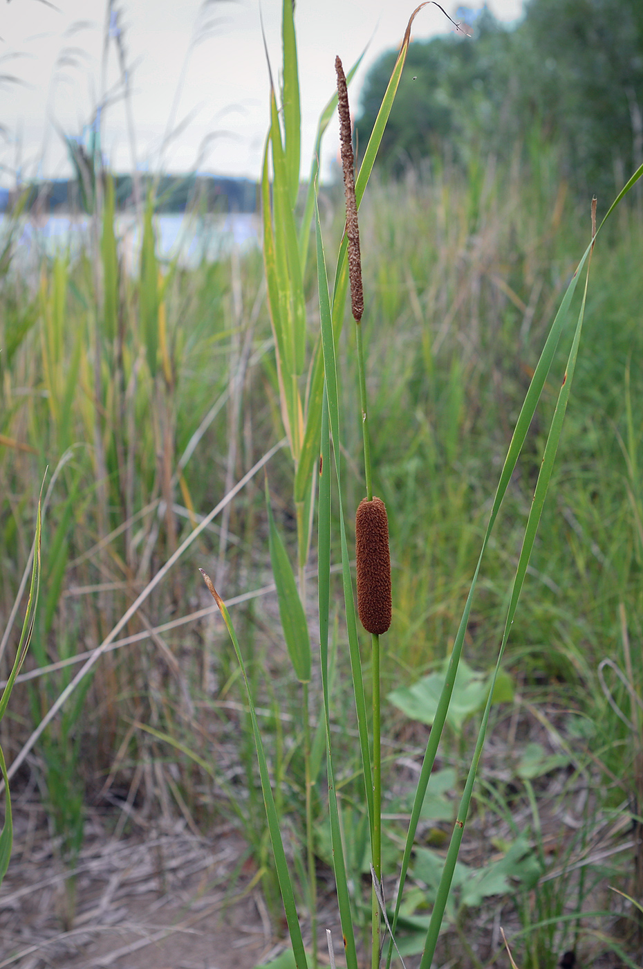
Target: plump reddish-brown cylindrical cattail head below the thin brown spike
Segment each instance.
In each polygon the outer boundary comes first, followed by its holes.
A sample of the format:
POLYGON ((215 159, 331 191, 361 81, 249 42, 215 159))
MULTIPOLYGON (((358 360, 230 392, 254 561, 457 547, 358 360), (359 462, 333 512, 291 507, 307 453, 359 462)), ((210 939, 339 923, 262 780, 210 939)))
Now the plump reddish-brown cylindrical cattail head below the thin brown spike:
POLYGON ((388 518, 382 498, 359 503, 355 515, 357 611, 367 633, 382 636, 390 626, 388 518))

